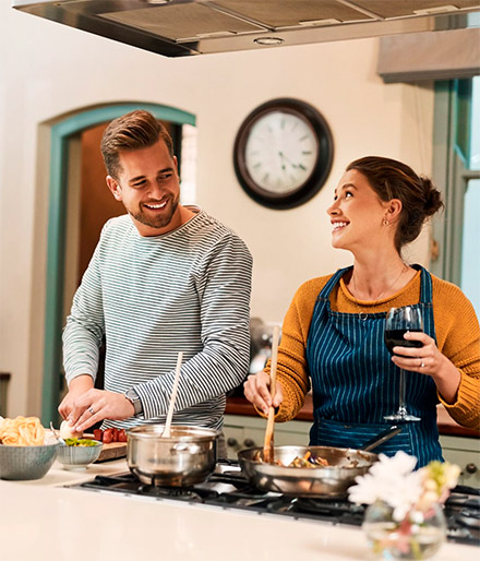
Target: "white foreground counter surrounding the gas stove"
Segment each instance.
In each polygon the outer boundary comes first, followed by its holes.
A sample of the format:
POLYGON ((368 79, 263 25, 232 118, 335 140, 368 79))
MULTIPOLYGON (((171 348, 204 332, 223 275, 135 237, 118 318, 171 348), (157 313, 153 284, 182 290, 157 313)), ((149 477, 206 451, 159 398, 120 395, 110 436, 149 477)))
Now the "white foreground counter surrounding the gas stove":
MULTIPOLYGON (((0 480, 1 561, 352 561, 373 559, 358 528, 213 506, 68 489, 124 461, 36 481, 0 480)), ((478 560, 479 549, 444 544, 435 561, 478 560)))

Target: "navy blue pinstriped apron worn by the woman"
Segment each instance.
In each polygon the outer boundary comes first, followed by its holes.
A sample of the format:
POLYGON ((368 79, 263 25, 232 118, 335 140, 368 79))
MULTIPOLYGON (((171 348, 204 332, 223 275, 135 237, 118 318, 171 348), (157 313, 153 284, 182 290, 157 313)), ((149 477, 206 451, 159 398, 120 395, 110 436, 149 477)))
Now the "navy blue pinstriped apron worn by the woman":
MULTIPOLYGON (((420 265, 420 308, 423 330, 435 339, 432 277, 420 265)), ((307 361, 312 379, 314 422, 311 445, 361 447, 387 429, 384 419, 398 409, 399 369, 384 343, 386 313, 339 313, 331 308, 329 295, 351 267, 337 271, 321 290, 307 341, 307 361)), ((436 339, 435 339, 436 341, 436 339)), ((436 427, 436 386, 432 378, 406 372, 408 413, 420 421, 401 425, 401 432, 374 450, 394 455, 403 450, 418 458, 417 467, 442 458, 436 427)))

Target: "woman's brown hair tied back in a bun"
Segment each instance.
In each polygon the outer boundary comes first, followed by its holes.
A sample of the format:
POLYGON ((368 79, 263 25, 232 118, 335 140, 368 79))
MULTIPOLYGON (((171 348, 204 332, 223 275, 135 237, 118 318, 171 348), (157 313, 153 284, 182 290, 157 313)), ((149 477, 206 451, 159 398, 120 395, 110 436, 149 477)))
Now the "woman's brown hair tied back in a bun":
POLYGON ((440 191, 427 177, 418 176, 409 166, 396 159, 367 156, 347 166, 364 176, 382 201, 398 199, 401 213, 395 235, 398 253, 418 238, 423 223, 444 206, 440 191))

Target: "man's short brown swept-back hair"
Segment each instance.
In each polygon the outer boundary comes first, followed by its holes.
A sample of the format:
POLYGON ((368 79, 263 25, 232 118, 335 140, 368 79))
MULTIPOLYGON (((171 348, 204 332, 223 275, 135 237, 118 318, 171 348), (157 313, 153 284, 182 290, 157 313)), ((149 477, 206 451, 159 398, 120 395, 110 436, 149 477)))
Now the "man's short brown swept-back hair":
POLYGON ((100 143, 107 174, 118 180, 121 172, 120 153, 147 148, 159 139, 167 145, 170 156, 173 156, 173 142, 170 134, 148 111, 136 109, 113 119, 105 129, 100 143))

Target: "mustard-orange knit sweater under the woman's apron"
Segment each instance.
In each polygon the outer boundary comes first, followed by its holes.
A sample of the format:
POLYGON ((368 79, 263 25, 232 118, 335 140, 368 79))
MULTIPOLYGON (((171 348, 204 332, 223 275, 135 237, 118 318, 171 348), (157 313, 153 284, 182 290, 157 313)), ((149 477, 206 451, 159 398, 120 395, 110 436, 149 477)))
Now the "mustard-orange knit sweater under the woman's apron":
MULTIPOLYGON (((315 299, 331 277, 313 278, 300 286, 285 317, 277 361, 277 381, 281 384, 284 402, 276 421, 292 419, 310 390, 307 338, 315 299)), ((480 428, 480 327, 477 315, 457 286, 433 275, 432 285, 436 344, 461 374, 457 401, 448 404, 441 395, 439 399, 459 425, 480 428)), ((343 313, 377 313, 392 307, 417 303, 419 299, 420 272, 395 295, 372 302, 356 300, 341 278, 331 294, 331 307, 343 313)), ((265 370, 269 372, 269 362, 265 370)))

